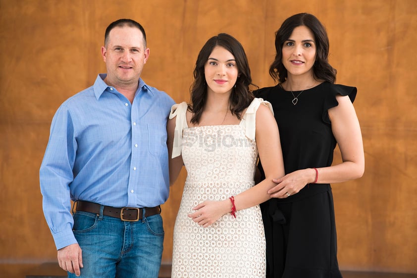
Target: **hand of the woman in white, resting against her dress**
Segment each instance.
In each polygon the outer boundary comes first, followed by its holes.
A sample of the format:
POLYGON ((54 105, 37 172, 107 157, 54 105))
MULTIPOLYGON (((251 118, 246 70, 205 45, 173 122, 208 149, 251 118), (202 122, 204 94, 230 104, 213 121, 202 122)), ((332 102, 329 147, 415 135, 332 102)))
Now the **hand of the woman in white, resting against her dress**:
POLYGON ((203 227, 208 227, 216 222, 224 214, 231 211, 232 204, 227 200, 222 201, 204 201, 193 208, 195 213, 188 215, 194 222, 203 227))

